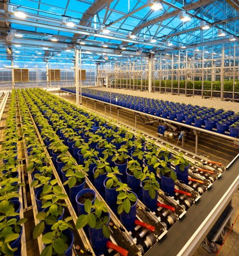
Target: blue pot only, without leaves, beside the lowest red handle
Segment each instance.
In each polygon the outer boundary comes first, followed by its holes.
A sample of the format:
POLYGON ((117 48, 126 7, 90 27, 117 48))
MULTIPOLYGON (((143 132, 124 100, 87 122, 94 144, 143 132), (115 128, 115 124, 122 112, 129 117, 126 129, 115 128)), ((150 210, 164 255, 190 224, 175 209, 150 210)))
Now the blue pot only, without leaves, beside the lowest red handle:
MULTIPOLYGON (((110 214, 109 214, 109 219, 110 219, 110 214)), ((107 225, 109 225, 109 222, 107 225)), ((104 237, 102 228, 92 229, 91 227, 89 227, 89 238, 90 238, 90 244, 92 245, 94 253, 96 253, 97 256, 106 253, 107 251, 106 243, 108 241, 108 238, 104 237)))

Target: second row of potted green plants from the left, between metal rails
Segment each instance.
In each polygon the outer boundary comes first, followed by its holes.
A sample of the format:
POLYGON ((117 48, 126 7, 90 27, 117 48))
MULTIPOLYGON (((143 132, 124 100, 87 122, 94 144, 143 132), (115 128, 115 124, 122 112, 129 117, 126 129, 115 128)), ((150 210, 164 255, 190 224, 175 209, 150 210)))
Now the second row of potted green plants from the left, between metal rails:
MULTIPOLYGON (((28 107, 20 91, 18 91, 18 100, 22 118, 22 133, 28 153, 27 172, 31 173, 33 178, 30 186, 35 190, 38 206, 36 218, 39 220, 39 224, 34 228, 33 238, 42 235, 42 242, 46 246, 41 255, 72 255, 74 241, 74 235, 70 230, 70 228, 73 229, 70 222, 72 217, 64 218, 64 208, 67 207, 64 199, 67 198, 67 194, 63 193, 53 176, 52 168, 48 165, 49 159, 38 140, 28 107)), ((44 118, 41 118, 38 109, 32 109, 32 111, 34 110, 38 120, 42 119, 42 124, 44 123, 44 128, 47 129, 48 125, 44 122, 44 118)))

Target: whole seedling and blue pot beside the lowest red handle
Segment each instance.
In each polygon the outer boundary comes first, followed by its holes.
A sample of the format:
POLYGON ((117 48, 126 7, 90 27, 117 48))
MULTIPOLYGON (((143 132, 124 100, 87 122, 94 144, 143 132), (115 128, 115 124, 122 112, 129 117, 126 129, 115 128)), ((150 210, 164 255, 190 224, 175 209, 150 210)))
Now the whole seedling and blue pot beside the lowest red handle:
POLYGON ((96 198, 94 204, 88 199, 85 201, 85 212, 76 221, 76 229, 89 226, 89 238, 96 255, 104 254, 107 250, 106 243, 110 237, 110 214, 105 202, 96 198))

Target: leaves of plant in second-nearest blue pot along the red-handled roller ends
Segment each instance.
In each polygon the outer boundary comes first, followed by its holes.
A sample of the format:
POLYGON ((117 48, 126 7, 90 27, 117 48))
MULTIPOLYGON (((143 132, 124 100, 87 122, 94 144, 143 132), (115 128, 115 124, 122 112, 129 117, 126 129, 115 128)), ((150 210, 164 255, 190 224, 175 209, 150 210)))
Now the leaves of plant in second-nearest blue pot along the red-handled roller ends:
POLYGON ((117 212, 118 214, 121 214, 123 211, 129 213, 131 202, 136 202, 137 197, 134 193, 130 192, 130 188, 127 186, 127 184, 118 182, 118 186, 119 187, 116 189, 116 191, 119 192, 117 196, 117 212))

